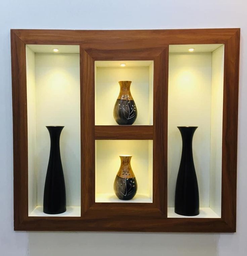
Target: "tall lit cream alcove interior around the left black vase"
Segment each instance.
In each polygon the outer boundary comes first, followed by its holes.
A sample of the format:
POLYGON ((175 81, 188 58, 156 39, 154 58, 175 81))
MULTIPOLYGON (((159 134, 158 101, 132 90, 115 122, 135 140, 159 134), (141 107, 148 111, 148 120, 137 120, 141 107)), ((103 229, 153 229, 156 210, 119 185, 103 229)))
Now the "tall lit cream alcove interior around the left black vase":
POLYGON ((81 216, 79 46, 26 45, 26 65, 28 215, 81 216), (50 152, 46 126, 50 125, 64 126, 60 136, 60 154, 67 211, 58 215, 43 213, 44 184, 50 152))

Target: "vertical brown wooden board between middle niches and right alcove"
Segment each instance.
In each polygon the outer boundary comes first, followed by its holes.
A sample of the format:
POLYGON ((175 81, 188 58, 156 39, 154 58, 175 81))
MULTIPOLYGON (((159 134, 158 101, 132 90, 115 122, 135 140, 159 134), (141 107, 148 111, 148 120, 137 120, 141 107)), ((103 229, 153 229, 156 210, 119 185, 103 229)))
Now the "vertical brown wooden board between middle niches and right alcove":
POLYGON ((168 46, 154 61, 154 203, 167 217, 168 46))

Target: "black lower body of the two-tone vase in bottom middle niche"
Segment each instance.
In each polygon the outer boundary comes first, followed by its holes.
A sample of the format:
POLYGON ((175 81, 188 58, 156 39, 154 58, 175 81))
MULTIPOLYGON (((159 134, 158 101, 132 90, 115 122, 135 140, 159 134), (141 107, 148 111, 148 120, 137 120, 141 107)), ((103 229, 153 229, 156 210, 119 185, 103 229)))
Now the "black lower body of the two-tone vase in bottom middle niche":
POLYGON ((121 200, 132 199, 137 191, 136 178, 121 178, 118 175, 114 181, 114 192, 121 200))

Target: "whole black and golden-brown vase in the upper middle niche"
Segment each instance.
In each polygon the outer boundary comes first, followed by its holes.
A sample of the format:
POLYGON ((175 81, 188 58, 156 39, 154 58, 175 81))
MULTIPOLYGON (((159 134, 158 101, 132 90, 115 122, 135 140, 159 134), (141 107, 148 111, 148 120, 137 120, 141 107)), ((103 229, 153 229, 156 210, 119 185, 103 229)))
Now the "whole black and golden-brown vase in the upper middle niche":
POLYGON ((137 117, 137 108, 130 93, 131 81, 119 81, 120 92, 113 109, 118 124, 133 124, 137 117))

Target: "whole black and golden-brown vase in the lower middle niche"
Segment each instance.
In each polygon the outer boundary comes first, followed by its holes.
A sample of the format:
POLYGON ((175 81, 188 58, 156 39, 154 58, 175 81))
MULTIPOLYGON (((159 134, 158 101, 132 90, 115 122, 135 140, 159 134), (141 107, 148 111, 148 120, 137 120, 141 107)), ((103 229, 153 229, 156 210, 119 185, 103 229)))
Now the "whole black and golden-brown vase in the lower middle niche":
POLYGON ((120 155, 121 165, 114 181, 114 192, 119 199, 130 200, 137 191, 137 182, 130 165, 132 155, 120 155))

